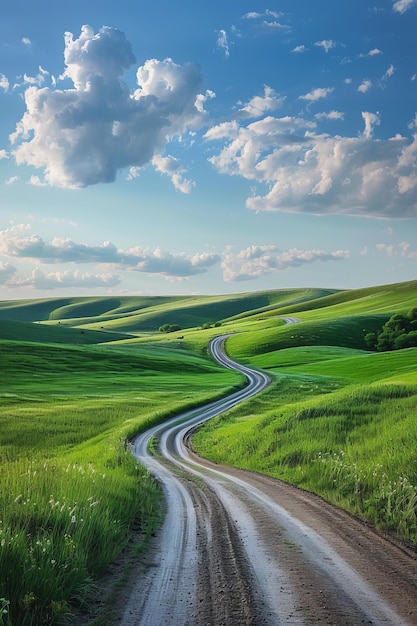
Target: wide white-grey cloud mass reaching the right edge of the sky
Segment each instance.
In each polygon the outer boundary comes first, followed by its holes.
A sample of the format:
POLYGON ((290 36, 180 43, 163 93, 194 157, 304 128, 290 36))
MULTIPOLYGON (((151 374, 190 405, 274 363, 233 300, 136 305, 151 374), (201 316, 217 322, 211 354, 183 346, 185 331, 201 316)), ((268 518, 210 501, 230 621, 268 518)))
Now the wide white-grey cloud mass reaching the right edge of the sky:
POLYGON ((417 134, 377 140, 378 114, 362 114, 356 137, 320 134, 300 118, 265 117, 246 126, 219 124, 205 138, 222 141, 212 165, 267 186, 248 208, 373 217, 417 216, 417 134))

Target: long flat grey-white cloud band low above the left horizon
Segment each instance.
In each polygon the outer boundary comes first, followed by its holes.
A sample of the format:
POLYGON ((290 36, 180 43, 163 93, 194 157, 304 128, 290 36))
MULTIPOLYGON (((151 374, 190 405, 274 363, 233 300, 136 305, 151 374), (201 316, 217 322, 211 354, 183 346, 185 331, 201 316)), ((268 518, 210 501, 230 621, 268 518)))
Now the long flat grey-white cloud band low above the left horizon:
POLYGON ((44 241, 30 230, 29 225, 19 224, 0 231, 0 254, 12 258, 35 259, 49 264, 106 264, 118 270, 160 274, 167 278, 186 278, 201 274, 220 261, 220 257, 212 252, 194 255, 173 254, 160 248, 150 250, 139 246, 121 250, 110 241, 92 246, 58 237, 44 241))

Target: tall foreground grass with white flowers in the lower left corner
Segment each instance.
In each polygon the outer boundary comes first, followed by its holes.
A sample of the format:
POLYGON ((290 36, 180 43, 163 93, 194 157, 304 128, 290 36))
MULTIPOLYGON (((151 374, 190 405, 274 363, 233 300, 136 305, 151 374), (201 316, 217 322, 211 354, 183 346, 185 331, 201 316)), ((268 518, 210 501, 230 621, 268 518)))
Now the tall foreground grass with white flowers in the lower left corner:
MULTIPOLYGON (((120 444, 119 444, 120 445, 120 444)), ((9 463, 0 492, 3 623, 59 623, 140 524, 158 520, 159 489, 124 449, 104 464, 9 463)))

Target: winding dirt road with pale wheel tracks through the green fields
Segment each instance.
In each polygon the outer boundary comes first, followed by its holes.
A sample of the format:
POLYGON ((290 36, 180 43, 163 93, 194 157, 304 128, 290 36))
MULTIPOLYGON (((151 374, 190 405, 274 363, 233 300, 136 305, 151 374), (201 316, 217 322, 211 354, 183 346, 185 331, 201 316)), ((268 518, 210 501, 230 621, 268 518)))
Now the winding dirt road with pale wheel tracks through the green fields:
POLYGON ((163 485, 166 516, 120 624, 417 624, 413 553, 312 494, 192 453, 196 425, 270 383, 226 356, 226 338, 214 339, 211 353, 243 373, 247 386, 133 442, 135 457, 163 485), (157 457, 148 452, 151 438, 157 457))

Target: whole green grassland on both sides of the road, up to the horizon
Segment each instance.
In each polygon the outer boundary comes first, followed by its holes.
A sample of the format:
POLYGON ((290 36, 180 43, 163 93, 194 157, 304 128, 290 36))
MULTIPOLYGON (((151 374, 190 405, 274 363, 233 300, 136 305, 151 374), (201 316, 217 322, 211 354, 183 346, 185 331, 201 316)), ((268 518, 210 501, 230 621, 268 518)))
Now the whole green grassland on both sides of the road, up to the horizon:
POLYGON ((76 623, 132 533, 132 558, 145 548, 162 495, 130 441, 242 384, 209 358, 223 333, 273 383, 194 448, 417 546, 417 349, 374 353, 364 339, 417 306, 416 288, 0 302, 0 624, 76 623))

